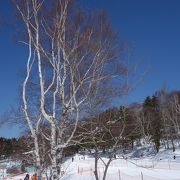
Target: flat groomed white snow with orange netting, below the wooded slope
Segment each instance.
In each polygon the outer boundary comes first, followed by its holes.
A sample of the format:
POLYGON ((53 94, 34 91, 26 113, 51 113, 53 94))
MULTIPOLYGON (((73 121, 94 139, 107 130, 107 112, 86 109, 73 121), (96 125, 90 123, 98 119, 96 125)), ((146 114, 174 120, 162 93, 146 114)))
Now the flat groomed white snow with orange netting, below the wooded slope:
MULTIPOLYGON (((157 157, 156 157, 157 158, 157 157)), ((161 157, 162 158, 162 157, 161 157)), ((68 160, 63 180, 94 180, 94 159, 85 157, 85 160, 75 156, 74 162, 68 160)), ((106 158, 104 158, 106 160, 106 158)), ((103 163, 98 165, 98 173, 102 178, 103 163)), ((108 170, 107 179, 117 180, 180 180, 180 163, 177 161, 144 159, 117 159, 108 170)))

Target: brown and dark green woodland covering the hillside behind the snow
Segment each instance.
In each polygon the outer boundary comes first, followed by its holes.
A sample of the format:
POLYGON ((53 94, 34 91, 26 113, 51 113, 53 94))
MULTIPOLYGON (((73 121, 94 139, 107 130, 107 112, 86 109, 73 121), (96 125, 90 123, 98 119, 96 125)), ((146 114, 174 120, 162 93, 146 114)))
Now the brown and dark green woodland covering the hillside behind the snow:
MULTIPOLYGON (((50 142, 48 126, 41 126, 44 135, 39 135, 41 151, 47 154, 50 142), (45 137, 46 136, 46 137, 45 137)), ((71 126, 69 130, 71 131, 71 126)), ((68 133, 67 131, 67 133, 68 133)), ((133 150, 134 146, 153 145, 156 152, 160 146, 175 151, 174 142, 180 144, 180 91, 156 92, 145 98, 142 104, 132 103, 107 109, 93 117, 79 121, 72 145, 65 149, 64 155, 72 155, 82 149, 108 151, 121 134, 116 149, 133 150)), ((19 138, 0 138, 1 158, 18 157, 33 150, 30 133, 19 138)))

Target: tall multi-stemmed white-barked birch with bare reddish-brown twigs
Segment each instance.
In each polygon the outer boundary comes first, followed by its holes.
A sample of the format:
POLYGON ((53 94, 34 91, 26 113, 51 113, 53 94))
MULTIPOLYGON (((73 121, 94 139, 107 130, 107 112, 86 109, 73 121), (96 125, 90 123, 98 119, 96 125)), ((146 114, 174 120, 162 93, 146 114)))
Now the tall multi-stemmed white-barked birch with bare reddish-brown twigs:
POLYGON ((29 47, 23 83, 23 110, 34 138, 37 167, 41 169, 37 134, 49 125, 52 178, 60 177, 64 149, 76 131, 80 113, 92 91, 122 74, 116 36, 104 12, 76 10, 71 0, 17 0, 29 47), (27 84, 36 85, 36 118, 29 116, 27 84), (71 131, 69 131, 71 129, 71 131))

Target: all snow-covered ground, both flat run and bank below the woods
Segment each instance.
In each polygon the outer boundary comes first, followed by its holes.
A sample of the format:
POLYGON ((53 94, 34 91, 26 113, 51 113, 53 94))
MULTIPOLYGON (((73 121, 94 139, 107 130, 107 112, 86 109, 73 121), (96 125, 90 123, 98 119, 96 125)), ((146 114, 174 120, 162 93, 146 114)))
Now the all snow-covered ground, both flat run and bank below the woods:
MULTIPOLYGON (((162 150, 156 156, 151 156, 150 150, 139 149, 127 154, 127 160, 117 156, 108 169, 107 180, 180 180, 180 151, 172 153, 162 150), (138 153, 140 158, 137 158, 138 153), (142 157, 143 153, 143 157, 142 157), (174 159, 174 156, 176 158, 174 159)), ((106 161, 107 159, 104 158, 106 161)), ((63 165, 65 174, 63 180, 94 180, 94 159, 88 155, 77 154, 74 161, 69 158, 63 165)), ((98 164, 98 173, 102 179, 104 166, 98 164)), ((25 177, 21 174, 6 177, 4 180, 20 180, 25 177)), ((0 179, 3 180, 2 177, 0 179)))

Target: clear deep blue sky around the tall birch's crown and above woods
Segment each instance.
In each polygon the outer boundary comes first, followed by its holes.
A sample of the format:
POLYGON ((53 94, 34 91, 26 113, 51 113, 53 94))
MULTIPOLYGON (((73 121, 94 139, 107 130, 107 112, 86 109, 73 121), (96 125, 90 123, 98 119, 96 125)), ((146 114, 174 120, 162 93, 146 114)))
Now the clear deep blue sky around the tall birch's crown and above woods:
MULTIPOLYGON (((180 89, 179 0, 81 0, 88 9, 105 9, 113 26, 129 44, 136 44, 133 61, 141 62, 139 74, 148 70, 129 101, 142 102, 164 84, 180 89)), ((25 47, 13 40, 13 10, 10 0, 0 1, 0 112, 15 106, 20 72, 25 67, 25 47)), ((18 128, 2 127, 0 136, 18 135, 18 128)))

